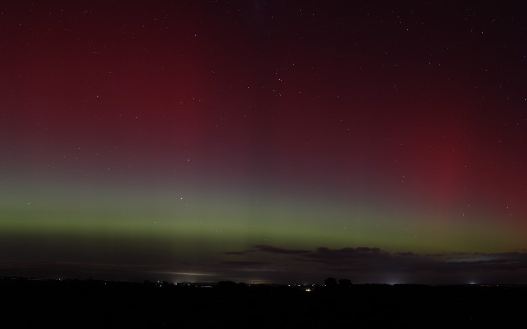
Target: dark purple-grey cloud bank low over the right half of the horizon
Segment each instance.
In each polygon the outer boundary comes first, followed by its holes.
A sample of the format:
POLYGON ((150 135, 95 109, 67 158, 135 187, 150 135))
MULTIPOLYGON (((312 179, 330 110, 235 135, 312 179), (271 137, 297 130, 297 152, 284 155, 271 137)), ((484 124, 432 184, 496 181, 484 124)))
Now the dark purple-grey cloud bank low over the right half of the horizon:
MULTIPOLYGON (((284 255, 286 258, 272 258, 276 262, 274 268, 284 275, 290 273, 289 277, 318 277, 319 281, 340 276, 370 283, 523 283, 527 276, 527 253, 518 252, 417 254, 364 246, 338 249, 321 246, 312 251, 272 245, 254 247, 259 253, 253 253, 251 261, 268 261, 272 255, 284 255)), ((249 267, 251 264, 247 263, 245 268, 249 267)))

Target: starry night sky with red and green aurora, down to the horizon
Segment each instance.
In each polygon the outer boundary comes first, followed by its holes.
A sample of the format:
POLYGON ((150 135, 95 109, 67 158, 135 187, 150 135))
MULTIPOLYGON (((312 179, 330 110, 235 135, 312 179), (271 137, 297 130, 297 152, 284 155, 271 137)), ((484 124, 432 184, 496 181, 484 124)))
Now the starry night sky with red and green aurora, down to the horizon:
POLYGON ((0 4, 0 276, 527 283, 523 1, 0 4))

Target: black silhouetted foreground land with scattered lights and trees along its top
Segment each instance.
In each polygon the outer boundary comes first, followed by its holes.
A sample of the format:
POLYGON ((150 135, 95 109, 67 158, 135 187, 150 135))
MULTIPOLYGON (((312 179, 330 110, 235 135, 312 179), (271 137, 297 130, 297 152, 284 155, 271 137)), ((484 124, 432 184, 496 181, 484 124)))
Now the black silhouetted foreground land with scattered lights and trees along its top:
POLYGON ((20 328, 523 327, 527 288, 0 278, 0 293, 20 328))

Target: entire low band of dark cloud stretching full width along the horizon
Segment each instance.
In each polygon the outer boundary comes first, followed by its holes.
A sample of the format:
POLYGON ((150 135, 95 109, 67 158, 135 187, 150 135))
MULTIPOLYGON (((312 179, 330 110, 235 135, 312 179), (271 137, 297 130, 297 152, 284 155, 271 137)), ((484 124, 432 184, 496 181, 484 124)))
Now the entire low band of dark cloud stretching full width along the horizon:
POLYGON ((321 283, 331 276, 349 278, 354 283, 525 283, 527 253, 391 253, 364 246, 336 249, 321 246, 310 251, 255 245, 253 250, 229 251, 221 258, 192 264, 0 260, 0 275, 21 273, 27 277, 93 276, 131 281, 186 281, 200 276, 208 281, 236 278, 240 282, 321 283), (240 255, 245 257, 240 260, 240 255))

